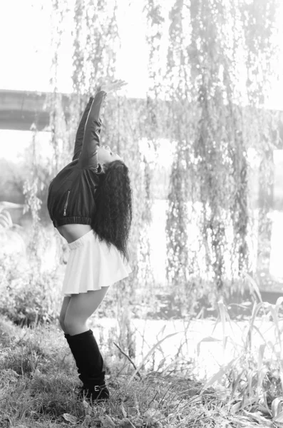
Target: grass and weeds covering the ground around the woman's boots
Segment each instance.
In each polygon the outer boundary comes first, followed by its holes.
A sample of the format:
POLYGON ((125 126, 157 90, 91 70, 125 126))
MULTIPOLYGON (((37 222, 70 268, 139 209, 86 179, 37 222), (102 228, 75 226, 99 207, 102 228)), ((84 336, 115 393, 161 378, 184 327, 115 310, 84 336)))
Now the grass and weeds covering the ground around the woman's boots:
MULTIPOLYGON (((273 315, 279 335, 278 306, 273 315)), ((247 337, 258 309, 252 313, 247 337)), ((223 330, 225 320, 222 307, 223 330)), ((81 382, 57 325, 31 329, 0 317, 0 427, 282 427, 282 384, 278 373, 277 383, 270 379, 272 371, 266 370, 262 349, 256 369, 250 365, 238 372, 233 360, 206 384, 162 368, 139 369, 141 376, 134 377, 136 370, 128 358, 115 362, 111 357, 109 366, 110 357, 105 355, 110 400, 92 406, 76 398, 81 382)))

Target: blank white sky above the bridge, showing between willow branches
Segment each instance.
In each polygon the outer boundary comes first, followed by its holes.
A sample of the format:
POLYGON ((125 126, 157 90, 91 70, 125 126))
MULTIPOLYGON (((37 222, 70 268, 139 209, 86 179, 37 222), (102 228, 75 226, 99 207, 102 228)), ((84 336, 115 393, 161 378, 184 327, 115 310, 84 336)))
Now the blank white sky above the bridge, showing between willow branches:
MULTIPOLYGON (((74 1, 68 0, 71 8, 74 1)), ((173 3, 173 0, 165 0, 163 8, 169 10, 173 3)), ((0 89, 26 91, 50 89, 51 4, 51 0, 0 2, 0 89)), ((117 53, 116 78, 128 82, 128 86, 123 89, 125 95, 141 98, 145 97, 149 84, 143 4, 143 0, 119 0, 117 16, 121 49, 117 53)), ((278 18, 279 23, 283 21, 283 1, 278 18)), ((72 26, 72 20, 65 19, 59 52, 61 63, 58 71, 58 89, 65 93, 72 91, 72 26)), ((283 55, 280 58, 280 68, 283 71, 283 55)), ((283 72, 279 83, 274 82, 272 85, 267 107, 283 110, 282 93, 283 72)))

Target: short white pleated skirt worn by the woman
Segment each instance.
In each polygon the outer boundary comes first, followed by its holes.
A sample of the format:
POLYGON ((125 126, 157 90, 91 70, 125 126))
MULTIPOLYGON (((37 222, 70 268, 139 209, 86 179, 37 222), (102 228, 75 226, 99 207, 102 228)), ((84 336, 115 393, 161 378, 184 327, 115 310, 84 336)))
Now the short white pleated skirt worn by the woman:
POLYGON ((132 272, 115 245, 108 248, 94 230, 68 244, 68 248, 70 253, 62 287, 64 296, 101 290, 101 287, 123 280, 132 272))

